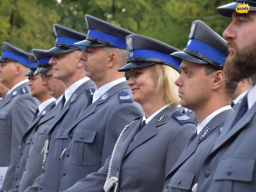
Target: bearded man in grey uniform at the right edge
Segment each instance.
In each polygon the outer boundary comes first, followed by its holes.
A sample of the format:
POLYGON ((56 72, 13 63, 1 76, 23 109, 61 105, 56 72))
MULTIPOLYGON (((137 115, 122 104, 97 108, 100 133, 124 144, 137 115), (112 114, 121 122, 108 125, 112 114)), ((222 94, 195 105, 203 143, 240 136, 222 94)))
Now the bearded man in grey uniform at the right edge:
MULTIPOLYGON (((239 3, 256 7, 255 0, 235 0, 217 8, 232 17, 223 32, 229 56, 224 72, 230 80, 252 77, 256 82, 256 12, 238 13, 239 3)), ((198 180, 197 192, 254 192, 256 189, 256 85, 226 121, 223 131, 207 155, 198 180)))

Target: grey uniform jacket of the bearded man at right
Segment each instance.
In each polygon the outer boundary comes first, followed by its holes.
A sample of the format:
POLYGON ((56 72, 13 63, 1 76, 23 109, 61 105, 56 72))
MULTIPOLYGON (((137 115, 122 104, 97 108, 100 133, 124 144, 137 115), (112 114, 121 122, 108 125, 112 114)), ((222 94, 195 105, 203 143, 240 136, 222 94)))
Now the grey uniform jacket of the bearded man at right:
POLYGON ((226 121, 207 155, 197 192, 256 191, 256 103, 234 125, 241 107, 226 121))

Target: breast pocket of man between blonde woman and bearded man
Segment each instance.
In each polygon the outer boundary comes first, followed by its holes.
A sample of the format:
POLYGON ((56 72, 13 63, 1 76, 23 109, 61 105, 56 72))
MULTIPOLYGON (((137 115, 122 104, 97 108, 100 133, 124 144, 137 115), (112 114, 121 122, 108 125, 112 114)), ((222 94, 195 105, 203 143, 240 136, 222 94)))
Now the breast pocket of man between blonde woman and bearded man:
POLYGON ((195 177, 195 171, 192 170, 180 170, 177 171, 172 177, 167 187, 170 189, 168 192, 183 192, 183 190, 189 190, 192 188, 193 179, 195 177))

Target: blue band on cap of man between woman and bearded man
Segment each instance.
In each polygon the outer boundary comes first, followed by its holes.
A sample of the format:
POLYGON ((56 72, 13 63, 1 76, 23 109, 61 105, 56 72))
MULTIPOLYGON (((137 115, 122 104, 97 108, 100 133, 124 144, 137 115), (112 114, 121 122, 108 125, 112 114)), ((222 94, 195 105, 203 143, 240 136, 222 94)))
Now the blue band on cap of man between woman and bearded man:
POLYGON ((211 60, 224 66, 225 60, 228 57, 221 51, 215 49, 214 47, 201 42, 197 39, 192 39, 190 44, 185 47, 185 49, 193 50, 201 53, 202 55, 210 58, 211 60))

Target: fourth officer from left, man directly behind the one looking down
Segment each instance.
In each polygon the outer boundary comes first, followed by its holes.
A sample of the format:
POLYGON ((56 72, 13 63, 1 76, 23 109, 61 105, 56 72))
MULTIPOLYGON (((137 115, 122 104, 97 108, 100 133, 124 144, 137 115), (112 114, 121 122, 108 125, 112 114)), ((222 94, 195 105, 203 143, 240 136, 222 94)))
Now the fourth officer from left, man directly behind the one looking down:
POLYGON ((61 153, 66 147, 67 140, 70 139, 68 132, 73 121, 86 106, 91 93, 96 89, 95 83, 85 75, 83 64, 79 59, 85 47, 74 44, 84 40, 86 35, 61 25, 53 25, 53 30, 56 42, 55 47, 47 51, 54 53, 49 64, 53 66, 53 77, 61 80, 66 90, 58 105, 55 123, 51 127, 45 169, 33 186, 25 190, 26 192, 56 191, 62 174, 61 153))

